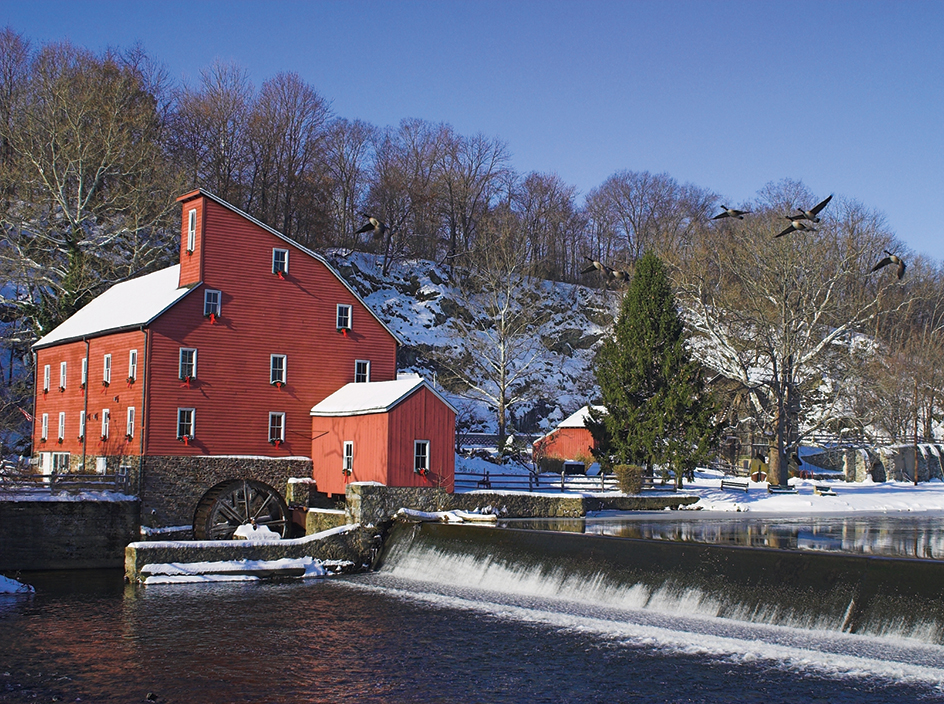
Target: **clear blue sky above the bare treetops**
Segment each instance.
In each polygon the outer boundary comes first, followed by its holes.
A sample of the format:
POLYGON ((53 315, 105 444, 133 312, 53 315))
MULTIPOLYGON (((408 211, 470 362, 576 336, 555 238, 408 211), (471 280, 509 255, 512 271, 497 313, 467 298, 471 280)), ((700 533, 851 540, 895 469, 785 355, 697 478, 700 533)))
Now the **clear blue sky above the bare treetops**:
POLYGON ((803 181, 944 261, 944 2, 3 0, 36 43, 141 43, 178 80, 295 71, 342 117, 504 140, 585 194, 665 172, 735 205, 803 181))

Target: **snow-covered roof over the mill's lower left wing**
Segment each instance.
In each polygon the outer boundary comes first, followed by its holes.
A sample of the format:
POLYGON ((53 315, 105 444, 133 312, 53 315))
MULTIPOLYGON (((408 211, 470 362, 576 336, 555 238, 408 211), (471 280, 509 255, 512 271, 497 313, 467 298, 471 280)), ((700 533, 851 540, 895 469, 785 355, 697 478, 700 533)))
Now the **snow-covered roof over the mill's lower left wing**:
POLYGON ((147 325, 193 290, 178 288, 179 282, 180 265, 174 265, 115 284, 37 340, 33 348, 147 325))

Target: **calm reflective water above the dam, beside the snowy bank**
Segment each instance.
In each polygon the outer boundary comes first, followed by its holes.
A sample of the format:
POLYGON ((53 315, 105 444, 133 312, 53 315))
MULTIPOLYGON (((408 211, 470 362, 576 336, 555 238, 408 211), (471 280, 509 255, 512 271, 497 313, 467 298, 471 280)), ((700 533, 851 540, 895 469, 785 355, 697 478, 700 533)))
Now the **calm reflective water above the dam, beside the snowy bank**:
POLYGON ((586 519, 508 520, 503 525, 619 538, 944 560, 944 514, 704 517, 613 513, 586 519))

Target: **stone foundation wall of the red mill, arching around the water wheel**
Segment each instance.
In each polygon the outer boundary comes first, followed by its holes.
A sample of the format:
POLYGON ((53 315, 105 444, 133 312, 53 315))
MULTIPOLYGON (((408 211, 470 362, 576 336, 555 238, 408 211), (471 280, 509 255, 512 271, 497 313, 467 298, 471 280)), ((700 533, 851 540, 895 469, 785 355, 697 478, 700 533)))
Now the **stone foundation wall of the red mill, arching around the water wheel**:
POLYGON ((147 457, 140 481, 141 520, 149 528, 188 525, 200 498, 230 479, 255 479, 286 496, 288 480, 311 477, 311 460, 268 457, 147 457))

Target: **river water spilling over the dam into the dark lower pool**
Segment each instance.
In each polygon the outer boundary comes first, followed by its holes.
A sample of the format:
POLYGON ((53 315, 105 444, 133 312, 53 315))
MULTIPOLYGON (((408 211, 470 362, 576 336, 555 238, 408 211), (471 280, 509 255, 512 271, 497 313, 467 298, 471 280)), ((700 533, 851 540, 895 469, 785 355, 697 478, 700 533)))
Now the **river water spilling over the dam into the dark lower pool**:
POLYGON ((0 702, 944 702, 944 563, 595 526, 400 526, 306 583, 24 575, 0 702))

